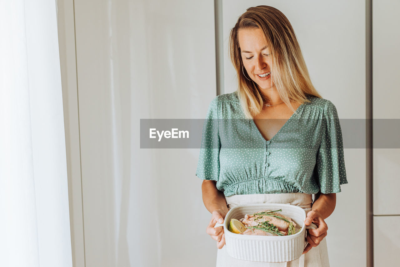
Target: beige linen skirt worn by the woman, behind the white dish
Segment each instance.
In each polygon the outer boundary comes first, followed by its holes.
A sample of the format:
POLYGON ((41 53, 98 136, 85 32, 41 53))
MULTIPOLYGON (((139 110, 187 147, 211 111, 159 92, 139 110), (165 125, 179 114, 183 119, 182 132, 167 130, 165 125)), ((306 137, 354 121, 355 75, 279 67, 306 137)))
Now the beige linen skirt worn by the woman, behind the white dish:
MULTIPOLYGON (((311 211, 312 195, 304 193, 285 193, 285 194, 253 194, 253 195, 233 195, 225 197, 228 209, 238 205, 248 205, 256 203, 282 203, 292 204, 302 207, 306 214, 311 211)), ((329 267, 328 249, 325 238, 321 243, 310 249, 306 254, 294 261, 288 262, 260 262, 244 261, 230 257, 226 251, 226 246, 217 251, 216 267, 329 267)))

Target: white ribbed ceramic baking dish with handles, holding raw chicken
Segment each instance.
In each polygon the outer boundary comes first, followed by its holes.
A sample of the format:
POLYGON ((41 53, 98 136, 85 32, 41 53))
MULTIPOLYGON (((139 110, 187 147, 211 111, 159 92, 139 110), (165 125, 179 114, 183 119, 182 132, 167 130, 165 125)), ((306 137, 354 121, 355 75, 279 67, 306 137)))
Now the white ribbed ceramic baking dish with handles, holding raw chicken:
MULTIPOLYGON (((284 262, 299 258, 307 245, 306 229, 316 229, 316 225, 306 226, 306 212, 298 206, 278 203, 261 203, 236 206, 226 214, 223 226, 225 244, 228 254, 236 259, 246 261, 284 262), (241 219, 245 214, 263 210, 279 210, 290 217, 301 230, 294 235, 260 236, 240 235, 228 231, 230 219, 241 219)), ((216 225, 218 227, 218 224, 216 225)))

